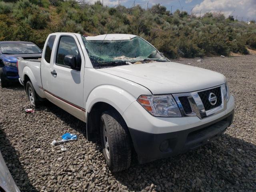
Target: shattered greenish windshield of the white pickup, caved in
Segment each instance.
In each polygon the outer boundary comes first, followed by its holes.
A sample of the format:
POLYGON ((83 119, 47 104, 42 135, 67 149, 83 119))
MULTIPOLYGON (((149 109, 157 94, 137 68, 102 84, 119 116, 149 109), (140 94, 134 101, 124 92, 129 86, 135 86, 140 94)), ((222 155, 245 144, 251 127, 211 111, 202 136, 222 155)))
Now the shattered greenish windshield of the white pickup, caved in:
POLYGON ((82 36, 82 40, 93 66, 169 61, 140 37, 130 40, 86 40, 82 36))

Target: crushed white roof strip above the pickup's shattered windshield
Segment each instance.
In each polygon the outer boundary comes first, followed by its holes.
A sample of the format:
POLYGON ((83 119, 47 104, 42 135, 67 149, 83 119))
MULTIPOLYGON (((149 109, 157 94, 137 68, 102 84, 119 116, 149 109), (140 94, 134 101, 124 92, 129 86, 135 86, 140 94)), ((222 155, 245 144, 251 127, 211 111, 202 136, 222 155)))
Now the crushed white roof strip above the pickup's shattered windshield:
POLYGON ((137 36, 131 35, 131 34, 104 34, 104 35, 98 35, 98 36, 88 36, 86 37, 86 40, 115 41, 115 40, 131 40, 134 37, 137 37, 137 36))

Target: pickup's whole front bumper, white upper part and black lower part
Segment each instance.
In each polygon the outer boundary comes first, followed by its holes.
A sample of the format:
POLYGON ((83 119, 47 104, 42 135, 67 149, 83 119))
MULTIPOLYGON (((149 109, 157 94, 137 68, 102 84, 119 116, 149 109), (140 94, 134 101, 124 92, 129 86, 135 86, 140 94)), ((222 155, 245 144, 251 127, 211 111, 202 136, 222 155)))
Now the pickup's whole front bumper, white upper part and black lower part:
POLYGON ((230 96, 226 110, 204 119, 154 117, 138 102, 132 103, 122 116, 139 162, 146 163, 198 148, 222 134, 234 118, 234 97, 230 96))

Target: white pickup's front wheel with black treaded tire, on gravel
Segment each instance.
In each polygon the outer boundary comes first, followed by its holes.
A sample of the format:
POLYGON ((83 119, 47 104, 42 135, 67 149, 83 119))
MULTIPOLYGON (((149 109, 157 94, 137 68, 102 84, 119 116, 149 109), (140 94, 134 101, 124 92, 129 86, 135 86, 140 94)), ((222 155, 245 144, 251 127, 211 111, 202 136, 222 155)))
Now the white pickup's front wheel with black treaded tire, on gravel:
POLYGON ((122 116, 109 110, 102 114, 100 135, 103 156, 113 172, 126 170, 131 164, 131 139, 128 127, 122 116))

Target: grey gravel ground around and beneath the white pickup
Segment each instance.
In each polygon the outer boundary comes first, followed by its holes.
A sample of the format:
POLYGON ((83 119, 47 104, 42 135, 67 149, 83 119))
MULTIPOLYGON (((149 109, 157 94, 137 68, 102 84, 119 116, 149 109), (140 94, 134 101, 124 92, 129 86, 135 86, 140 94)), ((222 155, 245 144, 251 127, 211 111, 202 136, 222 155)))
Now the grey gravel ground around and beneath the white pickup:
POLYGON ((85 124, 51 103, 30 108, 20 86, 0 88, 0 150, 21 191, 256 191, 256 56, 180 59, 221 72, 236 100, 225 134, 186 154, 111 173, 99 143, 87 142, 85 124), (67 151, 50 146, 78 134, 67 151), (38 149, 40 150, 38 151, 38 149), (61 158, 58 160, 58 158, 61 158))

